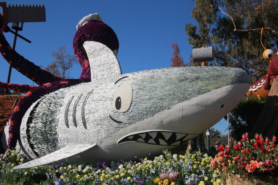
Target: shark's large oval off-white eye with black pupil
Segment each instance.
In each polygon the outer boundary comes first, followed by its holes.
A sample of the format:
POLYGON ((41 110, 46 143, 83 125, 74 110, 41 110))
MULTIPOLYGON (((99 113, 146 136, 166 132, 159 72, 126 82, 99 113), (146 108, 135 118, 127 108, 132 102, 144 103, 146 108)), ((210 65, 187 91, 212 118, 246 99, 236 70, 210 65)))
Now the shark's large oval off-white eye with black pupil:
POLYGON ((131 106, 132 102, 132 86, 130 84, 122 84, 117 88, 114 95, 114 108, 117 112, 125 113, 131 106))

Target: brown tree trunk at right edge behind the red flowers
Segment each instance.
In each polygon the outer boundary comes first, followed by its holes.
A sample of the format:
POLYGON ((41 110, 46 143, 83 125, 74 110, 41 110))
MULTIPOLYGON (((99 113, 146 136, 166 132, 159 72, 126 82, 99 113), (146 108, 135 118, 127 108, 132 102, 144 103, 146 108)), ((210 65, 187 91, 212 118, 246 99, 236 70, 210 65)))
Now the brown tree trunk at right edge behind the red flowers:
POLYGON ((274 79, 268 97, 258 120, 250 132, 250 137, 256 133, 272 138, 278 128, 278 79, 274 79))

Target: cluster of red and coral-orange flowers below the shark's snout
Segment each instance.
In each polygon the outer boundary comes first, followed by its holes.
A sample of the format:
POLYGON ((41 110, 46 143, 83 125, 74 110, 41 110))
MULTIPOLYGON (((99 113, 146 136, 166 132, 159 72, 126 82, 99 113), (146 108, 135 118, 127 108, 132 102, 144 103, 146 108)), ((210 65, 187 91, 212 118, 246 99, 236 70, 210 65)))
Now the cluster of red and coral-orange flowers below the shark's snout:
POLYGON ((213 169, 223 172, 226 177, 227 174, 234 174, 248 180, 259 176, 278 180, 276 177, 278 174, 278 145, 276 141, 276 137, 273 137, 272 140, 268 138, 264 140, 263 136, 258 134, 255 135, 254 139, 249 140, 246 133, 242 135, 241 141, 230 139, 231 144, 226 148, 224 146, 218 147, 219 153, 211 160, 211 165, 213 169))

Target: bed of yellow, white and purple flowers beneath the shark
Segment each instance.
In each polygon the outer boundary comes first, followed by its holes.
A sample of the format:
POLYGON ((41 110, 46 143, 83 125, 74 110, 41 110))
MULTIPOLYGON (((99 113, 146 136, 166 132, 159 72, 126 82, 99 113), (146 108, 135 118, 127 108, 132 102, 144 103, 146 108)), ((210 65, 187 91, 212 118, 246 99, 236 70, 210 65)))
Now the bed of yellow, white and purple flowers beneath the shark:
MULTIPOLYGON (((2 184, 221 184, 220 173, 212 170, 212 157, 200 151, 183 155, 163 155, 129 162, 98 162, 93 165, 52 164, 23 170, 13 170, 27 161, 18 151, 7 150, 1 155, 2 184)), ((1 184, 1 183, 0 183, 1 184)))

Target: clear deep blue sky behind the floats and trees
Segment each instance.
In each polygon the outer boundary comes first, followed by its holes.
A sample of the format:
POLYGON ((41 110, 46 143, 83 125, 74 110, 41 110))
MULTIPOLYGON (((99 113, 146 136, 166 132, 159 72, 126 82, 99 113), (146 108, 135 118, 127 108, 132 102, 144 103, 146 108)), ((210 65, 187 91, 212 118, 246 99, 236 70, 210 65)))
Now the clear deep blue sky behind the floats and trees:
MULTIPOLYGON (((171 65, 171 43, 179 44, 184 62, 192 54, 192 45, 184 31, 186 23, 196 24, 191 18, 193 1, 34 1, 9 0, 8 4, 44 4, 46 22, 24 23, 19 34, 32 41, 17 38, 15 50, 38 66, 46 67, 53 61, 52 51, 65 45, 74 54, 72 41, 76 25, 86 15, 98 13, 119 39, 118 60, 123 73, 147 69, 167 68, 171 65)), ((8 24, 11 27, 11 23, 8 24)), ((4 33, 12 46, 14 35, 4 33)), ((7 81, 9 64, 0 59, 0 80, 7 81)), ((70 75, 79 78, 81 67, 74 65, 70 75)), ((12 69, 14 84, 32 85, 32 80, 12 69)), ((222 119, 214 126, 227 134, 227 122, 222 119)))

